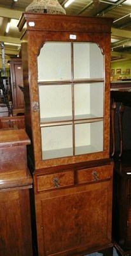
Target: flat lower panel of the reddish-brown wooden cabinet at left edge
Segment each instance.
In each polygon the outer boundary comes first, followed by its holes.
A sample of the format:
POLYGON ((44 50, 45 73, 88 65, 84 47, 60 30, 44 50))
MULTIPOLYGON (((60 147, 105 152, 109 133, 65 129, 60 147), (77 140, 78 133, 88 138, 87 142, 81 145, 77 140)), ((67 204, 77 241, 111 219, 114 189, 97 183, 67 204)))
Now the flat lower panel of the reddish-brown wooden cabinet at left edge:
POLYGON ((28 189, 0 193, 0 220, 1 255, 32 256, 28 189))

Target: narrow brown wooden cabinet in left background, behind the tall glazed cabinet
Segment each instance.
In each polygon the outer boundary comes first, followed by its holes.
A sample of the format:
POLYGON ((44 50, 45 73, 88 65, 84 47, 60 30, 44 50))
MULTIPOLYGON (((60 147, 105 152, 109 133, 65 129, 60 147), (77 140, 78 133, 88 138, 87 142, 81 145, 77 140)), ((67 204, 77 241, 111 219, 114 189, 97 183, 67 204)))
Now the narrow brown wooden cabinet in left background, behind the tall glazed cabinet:
POLYGON ((24 113, 24 93, 19 86, 23 86, 22 60, 14 58, 10 60, 11 91, 13 99, 13 115, 24 113))

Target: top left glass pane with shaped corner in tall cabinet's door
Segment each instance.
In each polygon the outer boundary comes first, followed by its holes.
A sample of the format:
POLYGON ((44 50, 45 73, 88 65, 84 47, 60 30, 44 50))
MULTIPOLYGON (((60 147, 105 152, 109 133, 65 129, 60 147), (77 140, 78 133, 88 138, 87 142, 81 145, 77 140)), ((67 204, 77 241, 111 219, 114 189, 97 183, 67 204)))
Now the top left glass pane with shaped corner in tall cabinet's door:
POLYGON ((71 80, 71 43, 45 43, 38 56, 38 81, 63 80, 71 80))

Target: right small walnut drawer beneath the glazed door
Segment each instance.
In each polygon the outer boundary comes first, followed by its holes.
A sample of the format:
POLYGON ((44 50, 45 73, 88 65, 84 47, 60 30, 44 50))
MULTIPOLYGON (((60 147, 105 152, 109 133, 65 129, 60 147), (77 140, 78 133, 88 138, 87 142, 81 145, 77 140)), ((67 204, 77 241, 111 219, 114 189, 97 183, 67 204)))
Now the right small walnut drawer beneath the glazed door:
POLYGON ((111 178, 111 166, 99 166, 77 171, 78 184, 111 178))

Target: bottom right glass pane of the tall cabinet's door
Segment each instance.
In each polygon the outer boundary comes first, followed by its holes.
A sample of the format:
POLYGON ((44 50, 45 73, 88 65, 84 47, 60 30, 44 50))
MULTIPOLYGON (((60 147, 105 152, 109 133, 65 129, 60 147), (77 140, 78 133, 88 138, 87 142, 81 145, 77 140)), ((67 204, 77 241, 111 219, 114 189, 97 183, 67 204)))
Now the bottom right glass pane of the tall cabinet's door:
POLYGON ((103 150, 103 122, 76 124, 75 155, 100 152, 103 150), (98 136, 99 134, 99 136, 98 136))

